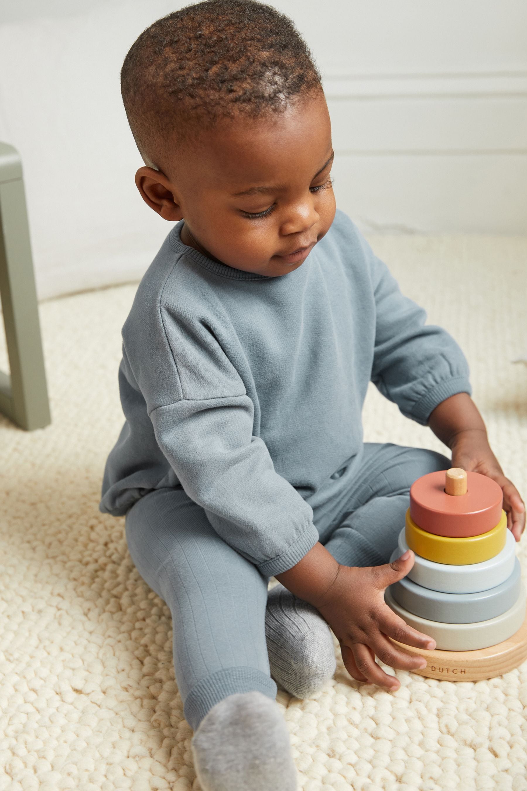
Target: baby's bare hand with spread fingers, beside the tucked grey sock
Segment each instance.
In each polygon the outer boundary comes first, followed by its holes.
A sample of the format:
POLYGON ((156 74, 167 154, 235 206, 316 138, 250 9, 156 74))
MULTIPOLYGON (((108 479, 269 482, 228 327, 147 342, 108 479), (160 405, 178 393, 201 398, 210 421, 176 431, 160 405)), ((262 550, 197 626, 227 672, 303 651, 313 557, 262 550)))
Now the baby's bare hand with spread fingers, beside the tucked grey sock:
POLYGON ((416 648, 435 649, 430 637, 408 626, 384 601, 386 587, 405 577, 413 561, 413 553, 407 551, 384 566, 341 566, 316 543, 292 569, 276 577, 295 596, 317 607, 336 634, 344 665, 354 679, 397 690, 400 682, 379 667, 375 655, 401 670, 424 668, 427 663, 423 657, 397 649, 388 637, 416 648))

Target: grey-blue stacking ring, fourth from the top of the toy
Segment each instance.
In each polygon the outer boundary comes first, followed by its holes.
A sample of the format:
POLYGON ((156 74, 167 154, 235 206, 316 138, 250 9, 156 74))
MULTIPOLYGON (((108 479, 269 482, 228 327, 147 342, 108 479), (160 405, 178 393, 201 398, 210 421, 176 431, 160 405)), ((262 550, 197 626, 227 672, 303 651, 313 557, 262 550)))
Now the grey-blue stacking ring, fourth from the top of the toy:
MULTIPOLYGON (((397 551, 394 554, 397 557, 397 551)), ((442 623, 476 623, 510 610, 520 595, 520 587, 521 569, 516 558, 513 573, 495 588, 476 593, 443 593, 423 588, 405 577, 390 585, 390 593, 397 604, 420 618, 442 623)))

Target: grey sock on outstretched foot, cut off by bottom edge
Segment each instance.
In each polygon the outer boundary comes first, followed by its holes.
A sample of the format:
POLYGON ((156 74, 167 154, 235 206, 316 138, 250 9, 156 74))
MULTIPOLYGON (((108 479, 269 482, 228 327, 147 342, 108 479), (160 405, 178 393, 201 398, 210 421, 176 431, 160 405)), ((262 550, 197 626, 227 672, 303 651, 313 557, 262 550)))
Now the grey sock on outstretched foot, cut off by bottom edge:
POLYGON ((295 791, 289 732, 262 692, 229 695, 205 715, 192 740, 203 791, 295 791))

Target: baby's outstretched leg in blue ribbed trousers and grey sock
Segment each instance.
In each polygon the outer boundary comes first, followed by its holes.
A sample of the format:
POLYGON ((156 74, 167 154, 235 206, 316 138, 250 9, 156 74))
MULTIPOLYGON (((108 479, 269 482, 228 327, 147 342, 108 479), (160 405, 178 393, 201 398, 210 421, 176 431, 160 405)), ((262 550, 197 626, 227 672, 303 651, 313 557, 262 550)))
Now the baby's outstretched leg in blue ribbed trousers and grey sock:
POLYGON ((293 791, 265 645, 267 579, 180 489, 141 498, 126 516, 126 541, 141 577, 171 611, 175 678, 195 730, 201 787, 293 791))

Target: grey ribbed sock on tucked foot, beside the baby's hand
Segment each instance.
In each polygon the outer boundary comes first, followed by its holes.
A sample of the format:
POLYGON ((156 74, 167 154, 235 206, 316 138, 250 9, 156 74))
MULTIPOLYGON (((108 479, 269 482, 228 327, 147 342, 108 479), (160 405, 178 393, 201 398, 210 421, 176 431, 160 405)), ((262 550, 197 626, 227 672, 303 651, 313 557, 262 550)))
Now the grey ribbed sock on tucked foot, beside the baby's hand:
POLYGON ((273 679, 296 698, 310 698, 333 677, 337 661, 329 626, 284 585, 269 591, 265 638, 273 679))

